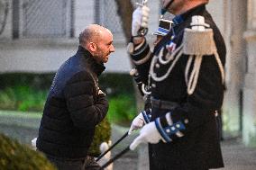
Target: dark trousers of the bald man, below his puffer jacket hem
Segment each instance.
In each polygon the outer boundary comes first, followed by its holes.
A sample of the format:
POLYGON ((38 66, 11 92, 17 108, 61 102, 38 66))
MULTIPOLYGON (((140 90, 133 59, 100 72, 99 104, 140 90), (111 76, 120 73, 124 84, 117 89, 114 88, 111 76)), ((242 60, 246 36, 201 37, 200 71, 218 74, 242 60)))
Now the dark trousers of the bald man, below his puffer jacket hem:
POLYGON ((94 157, 87 156, 83 159, 65 159, 50 156, 46 157, 59 170, 98 170, 100 168, 94 157))

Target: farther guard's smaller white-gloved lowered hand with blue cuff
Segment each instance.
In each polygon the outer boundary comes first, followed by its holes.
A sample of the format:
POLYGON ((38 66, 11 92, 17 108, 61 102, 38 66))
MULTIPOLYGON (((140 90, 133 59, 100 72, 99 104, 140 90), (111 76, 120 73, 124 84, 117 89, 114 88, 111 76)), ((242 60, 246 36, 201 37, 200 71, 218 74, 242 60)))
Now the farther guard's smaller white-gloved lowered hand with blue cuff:
POLYGON ((128 135, 131 135, 133 130, 141 129, 144 124, 149 123, 151 120, 151 109, 142 111, 138 116, 133 119, 128 135))

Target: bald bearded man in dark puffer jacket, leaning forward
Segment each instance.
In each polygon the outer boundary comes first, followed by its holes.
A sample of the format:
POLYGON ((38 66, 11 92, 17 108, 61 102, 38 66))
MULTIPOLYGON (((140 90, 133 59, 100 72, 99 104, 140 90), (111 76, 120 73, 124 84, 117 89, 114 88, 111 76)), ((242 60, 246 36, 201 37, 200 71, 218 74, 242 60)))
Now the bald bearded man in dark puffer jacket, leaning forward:
POLYGON ((36 147, 59 170, 99 168, 87 151, 108 110, 98 76, 112 52, 111 31, 90 24, 79 35, 77 53, 59 67, 52 81, 36 147))

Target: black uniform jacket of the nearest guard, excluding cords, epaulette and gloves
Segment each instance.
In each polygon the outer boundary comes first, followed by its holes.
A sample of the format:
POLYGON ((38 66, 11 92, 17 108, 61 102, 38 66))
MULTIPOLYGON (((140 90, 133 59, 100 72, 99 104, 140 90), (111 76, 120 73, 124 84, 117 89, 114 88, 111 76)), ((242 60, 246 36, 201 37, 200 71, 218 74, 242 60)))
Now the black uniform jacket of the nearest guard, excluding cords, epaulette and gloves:
MULTIPOLYGON (((185 28, 191 28, 193 15, 205 17, 206 23, 214 31, 217 53, 222 64, 225 63, 225 45, 223 37, 215 25, 211 15, 206 11, 205 4, 199 5, 187 13, 175 17, 172 31, 165 36, 151 53, 145 42, 140 48, 135 48, 132 59, 142 76, 144 84, 148 82, 151 58, 158 55, 161 48, 166 48, 171 37, 176 49, 182 43, 185 28), (151 54, 151 57, 149 58, 151 54), (147 59, 148 58, 148 59, 147 59), (142 61, 141 63, 138 61, 142 61), (138 64, 140 63, 140 64, 138 64)), ((167 51, 167 49, 165 49, 167 51)), ((160 82, 151 79, 151 96, 155 99, 178 103, 179 106, 171 112, 172 121, 188 120, 185 134, 181 138, 174 138, 172 142, 152 145, 154 164, 162 169, 207 169, 224 166, 219 139, 217 137, 215 110, 219 110, 224 98, 222 76, 215 60, 215 56, 204 56, 201 64, 197 87, 193 94, 187 94, 185 68, 188 56, 182 55, 172 69, 169 76, 160 82)), ((154 66, 158 76, 164 75, 172 62, 163 66, 158 61, 154 66), (158 66, 157 66, 158 65, 158 66)), ((169 110, 152 108, 152 119, 165 115, 169 110)))

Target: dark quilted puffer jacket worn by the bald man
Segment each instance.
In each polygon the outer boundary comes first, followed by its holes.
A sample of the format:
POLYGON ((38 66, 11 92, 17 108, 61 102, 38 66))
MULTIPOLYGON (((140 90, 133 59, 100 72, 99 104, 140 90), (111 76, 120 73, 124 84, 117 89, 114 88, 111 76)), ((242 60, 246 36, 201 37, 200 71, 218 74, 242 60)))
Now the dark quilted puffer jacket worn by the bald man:
POLYGON ((97 83, 104 70, 82 47, 59 67, 41 118, 39 150, 54 157, 87 156, 96 124, 108 110, 97 83))

